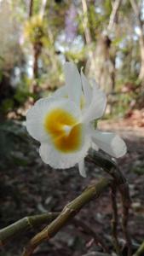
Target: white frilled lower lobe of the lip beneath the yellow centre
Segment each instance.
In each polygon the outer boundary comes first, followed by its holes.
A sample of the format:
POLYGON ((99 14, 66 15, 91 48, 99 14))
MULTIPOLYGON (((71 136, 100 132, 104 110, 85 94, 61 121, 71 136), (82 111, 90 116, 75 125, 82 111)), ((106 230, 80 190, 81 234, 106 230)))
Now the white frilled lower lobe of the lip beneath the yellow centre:
POLYGON ((56 150, 53 144, 42 143, 39 154, 44 163, 56 169, 66 169, 78 164, 87 155, 90 146, 90 138, 85 137, 83 147, 75 153, 63 154, 56 150))

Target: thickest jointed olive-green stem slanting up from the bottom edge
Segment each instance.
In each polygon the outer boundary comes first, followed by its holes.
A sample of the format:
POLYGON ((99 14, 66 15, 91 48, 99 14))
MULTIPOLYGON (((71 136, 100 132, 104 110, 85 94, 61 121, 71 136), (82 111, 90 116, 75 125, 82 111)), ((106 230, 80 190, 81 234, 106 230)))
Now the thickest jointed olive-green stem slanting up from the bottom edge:
POLYGON ((99 183, 89 186, 84 192, 79 195, 75 200, 70 202, 64 207, 60 215, 55 218, 55 220, 49 224, 45 229, 39 232, 36 236, 32 238, 28 246, 25 248, 22 256, 32 255, 35 248, 45 240, 49 240, 55 234, 70 221, 84 205, 94 198, 100 197, 101 193, 107 189, 112 184, 112 180, 107 178, 102 178, 99 183))

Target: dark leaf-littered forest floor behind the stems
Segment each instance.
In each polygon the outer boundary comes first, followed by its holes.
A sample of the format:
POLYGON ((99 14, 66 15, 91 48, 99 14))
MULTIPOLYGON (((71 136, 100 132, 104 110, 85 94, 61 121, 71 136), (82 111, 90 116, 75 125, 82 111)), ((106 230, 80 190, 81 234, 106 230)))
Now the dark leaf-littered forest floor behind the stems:
MULTIPOLYGON (((118 165, 130 184, 130 235, 135 244, 144 239, 144 129, 131 126, 125 121, 101 122, 100 127, 106 131, 117 131, 124 137, 128 153, 118 160, 118 165)), ((86 186, 94 183, 104 175, 93 164, 86 163, 88 177, 78 174, 77 168, 69 170, 54 170, 44 165, 37 153, 37 144, 28 138, 26 146, 19 143, 14 149, 14 162, 7 158, 3 164, 0 178, 1 190, 1 228, 23 218, 43 212, 60 212, 68 201, 78 196, 86 186)), ((23 143, 21 141, 21 143, 23 143)), ((12 149, 10 149, 12 150, 12 149)), ((121 232, 121 204, 118 200, 118 232, 120 241, 124 242, 121 232)), ((78 218, 88 224, 96 234, 99 234, 111 247, 112 207, 109 192, 106 191, 99 200, 91 201, 79 213, 78 218)), ((41 227, 42 228, 42 227, 41 227)), ((15 237, 0 252, 1 256, 20 256, 22 247, 37 230, 15 237)), ((48 242, 37 248, 37 256, 82 256, 90 251, 99 251, 92 238, 72 224, 65 228, 48 242)))

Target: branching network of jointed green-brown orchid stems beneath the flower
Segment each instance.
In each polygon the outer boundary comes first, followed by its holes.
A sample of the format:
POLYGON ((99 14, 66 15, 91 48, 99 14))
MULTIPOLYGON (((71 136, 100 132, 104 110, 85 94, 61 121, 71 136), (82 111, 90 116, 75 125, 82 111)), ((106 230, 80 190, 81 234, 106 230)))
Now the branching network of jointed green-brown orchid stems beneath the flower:
MULTIPOLYGON (((32 240, 28 243, 22 256, 31 256, 35 248, 43 241, 49 240, 67 223, 72 221, 75 226, 80 225, 84 230, 87 230, 90 236, 93 236, 95 242, 100 244, 106 253, 108 253, 107 247, 104 242, 100 239, 94 230, 86 228, 86 224, 82 224, 75 216, 92 199, 97 199, 101 196, 102 192, 107 188, 110 188, 111 200, 112 200, 112 241, 115 251, 120 255, 121 249, 118 244, 118 212, 116 203, 116 190, 120 192, 123 207, 122 216, 122 228, 124 231, 125 240, 129 254, 131 256, 131 241, 128 230, 128 218, 129 218, 129 207, 130 207, 130 195, 128 183, 122 172, 119 171, 117 164, 112 161, 109 157, 104 156, 101 153, 95 152, 86 158, 90 162, 94 162, 95 166, 101 167, 105 172, 112 176, 111 178, 102 178, 98 183, 90 185, 84 192, 79 195, 75 200, 68 203, 62 212, 48 212, 36 216, 30 216, 22 218, 18 222, 9 225, 8 227, 0 230, 0 243, 3 246, 15 235, 21 235, 23 232, 30 230, 37 225, 47 224, 51 222, 45 229, 39 232, 32 240)), ((136 255, 137 256, 137 255, 136 255)))

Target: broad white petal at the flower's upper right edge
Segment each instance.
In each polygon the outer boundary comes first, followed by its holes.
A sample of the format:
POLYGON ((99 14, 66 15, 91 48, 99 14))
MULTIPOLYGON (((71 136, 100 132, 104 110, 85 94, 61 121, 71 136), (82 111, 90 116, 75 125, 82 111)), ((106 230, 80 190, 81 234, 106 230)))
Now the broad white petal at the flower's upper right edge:
POLYGON ((92 101, 89 108, 85 111, 83 120, 84 122, 89 122, 93 119, 99 119, 106 108, 107 96, 102 90, 97 90, 96 87, 93 88, 92 101))

